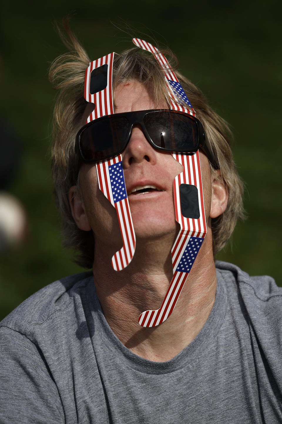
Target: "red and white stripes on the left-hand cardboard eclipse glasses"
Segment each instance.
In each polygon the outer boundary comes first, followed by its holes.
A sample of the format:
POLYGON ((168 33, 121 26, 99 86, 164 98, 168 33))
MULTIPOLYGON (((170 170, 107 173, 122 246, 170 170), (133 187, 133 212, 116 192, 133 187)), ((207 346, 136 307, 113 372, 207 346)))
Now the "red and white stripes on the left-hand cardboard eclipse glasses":
MULTIPOLYGON (((101 116, 111 115, 114 113, 113 108, 113 99, 112 99, 112 64, 115 53, 110 53, 106 56, 101 57, 100 59, 94 60, 89 63, 87 70, 85 71, 85 84, 84 84, 84 97, 90 103, 95 104, 95 109, 89 115, 87 123, 91 122, 101 116), (96 69, 104 64, 108 65, 107 68, 107 87, 104 90, 101 90, 95 94, 90 94, 90 76, 93 69, 96 69)), ((99 189, 104 193, 106 198, 111 202, 115 207, 118 222, 121 232, 121 237, 123 240, 123 247, 116 252, 112 257, 112 268, 115 271, 120 271, 125 268, 132 260, 136 239, 134 233, 134 227, 131 218, 131 212, 129 208, 129 201, 126 195, 126 198, 121 199, 120 201, 114 201, 111 180, 110 180, 110 170, 109 167, 118 162, 121 162, 120 173, 121 178, 123 178, 123 169, 122 169, 122 157, 121 155, 115 156, 111 159, 101 161, 96 164, 99 189)), ((125 188, 125 185, 124 185, 125 188)), ((126 190, 126 188, 125 188, 126 190)), ((126 191, 125 191, 126 192, 126 191)))

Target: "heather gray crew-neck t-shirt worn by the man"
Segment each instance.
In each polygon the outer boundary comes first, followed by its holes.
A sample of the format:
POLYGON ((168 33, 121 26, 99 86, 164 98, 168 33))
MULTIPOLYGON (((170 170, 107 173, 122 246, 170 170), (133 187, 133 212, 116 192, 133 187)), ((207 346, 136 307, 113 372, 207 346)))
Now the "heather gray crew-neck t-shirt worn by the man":
POLYGON ((281 423, 282 288, 216 267, 203 329, 161 363, 113 334, 90 273, 28 298, 0 323, 0 423, 281 423))

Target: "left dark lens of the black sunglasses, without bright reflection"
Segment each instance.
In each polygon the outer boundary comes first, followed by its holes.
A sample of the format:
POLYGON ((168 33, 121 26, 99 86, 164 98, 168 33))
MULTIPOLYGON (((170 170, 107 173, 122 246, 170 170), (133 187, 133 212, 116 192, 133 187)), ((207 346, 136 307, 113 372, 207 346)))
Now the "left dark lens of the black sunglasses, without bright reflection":
POLYGON ((86 161, 100 161, 120 153, 128 131, 126 117, 105 117, 93 121, 79 137, 79 148, 86 161))

